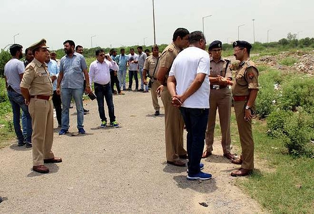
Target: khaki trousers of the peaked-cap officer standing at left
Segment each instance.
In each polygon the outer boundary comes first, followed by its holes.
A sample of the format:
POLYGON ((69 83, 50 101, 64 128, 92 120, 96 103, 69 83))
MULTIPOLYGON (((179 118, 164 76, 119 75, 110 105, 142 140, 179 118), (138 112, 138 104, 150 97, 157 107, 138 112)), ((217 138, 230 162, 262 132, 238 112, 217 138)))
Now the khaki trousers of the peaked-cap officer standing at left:
POLYGON ((44 165, 44 159, 54 158, 53 141, 53 106, 52 100, 31 98, 28 105, 32 119, 33 166, 44 165))

